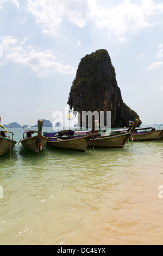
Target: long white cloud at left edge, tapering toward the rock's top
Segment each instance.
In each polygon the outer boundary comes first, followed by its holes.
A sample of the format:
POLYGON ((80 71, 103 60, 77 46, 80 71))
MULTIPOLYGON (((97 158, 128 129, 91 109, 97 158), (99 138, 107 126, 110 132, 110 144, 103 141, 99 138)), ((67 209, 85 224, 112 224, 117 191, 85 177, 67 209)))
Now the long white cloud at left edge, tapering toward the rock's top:
POLYGON ((8 63, 28 66, 37 77, 58 74, 73 74, 75 70, 71 65, 57 61, 54 51, 44 52, 35 50, 33 46, 26 45, 27 38, 18 41, 14 36, 2 36, 4 58, 0 59, 1 65, 8 63))

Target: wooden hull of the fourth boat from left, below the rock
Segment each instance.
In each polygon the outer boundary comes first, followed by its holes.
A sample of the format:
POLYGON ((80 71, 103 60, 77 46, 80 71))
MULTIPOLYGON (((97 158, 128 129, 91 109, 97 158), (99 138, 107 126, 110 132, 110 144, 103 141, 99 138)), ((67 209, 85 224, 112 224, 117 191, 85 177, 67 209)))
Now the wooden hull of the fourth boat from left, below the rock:
MULTIPOLYGON (((94 139, 94 147, 100 148, 123 148, 130 137, 130 133, 124 133, 116 136, 102 136, 94 139)), ((93 139, 91 139, 91 147, 93 147, 93 139)))

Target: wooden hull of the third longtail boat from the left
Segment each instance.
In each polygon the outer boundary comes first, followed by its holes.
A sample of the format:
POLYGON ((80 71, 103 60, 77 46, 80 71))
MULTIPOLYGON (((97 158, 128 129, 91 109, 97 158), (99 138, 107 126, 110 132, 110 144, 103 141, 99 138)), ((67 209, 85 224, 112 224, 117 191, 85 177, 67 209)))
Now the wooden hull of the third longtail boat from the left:
POLYGON ((59 139, 57 141, 48 141, 47 145, 51 145, 52 147, 55 148, 70 149, 84 152, 87 146, 89 145, 91 137, 91 135, 88 135, 71 139, 59 139))

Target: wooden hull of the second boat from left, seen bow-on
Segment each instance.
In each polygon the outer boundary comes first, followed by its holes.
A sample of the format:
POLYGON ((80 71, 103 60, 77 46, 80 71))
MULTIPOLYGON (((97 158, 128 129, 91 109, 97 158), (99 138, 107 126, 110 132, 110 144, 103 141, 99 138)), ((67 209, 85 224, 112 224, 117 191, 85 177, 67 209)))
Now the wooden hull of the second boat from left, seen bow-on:
POLYGON ((33 136, 27 139, 22 139, 20 142, 22 143, 22 146, 26 149, 32 150, 35 153, 39 153, 39 143, 41 139, 41 145, 42 148, 45 147, 46 143, 48 142, 48 138, 44 136, 33 136))

